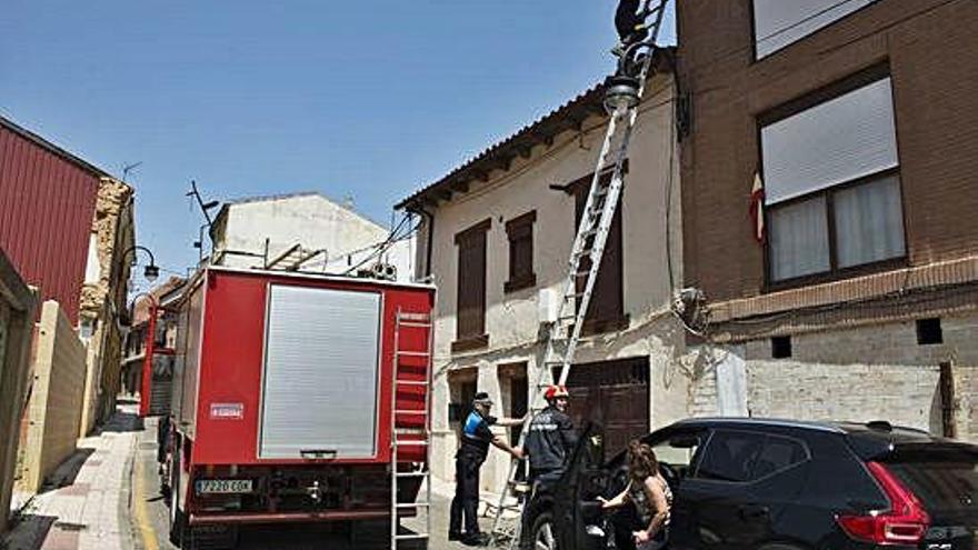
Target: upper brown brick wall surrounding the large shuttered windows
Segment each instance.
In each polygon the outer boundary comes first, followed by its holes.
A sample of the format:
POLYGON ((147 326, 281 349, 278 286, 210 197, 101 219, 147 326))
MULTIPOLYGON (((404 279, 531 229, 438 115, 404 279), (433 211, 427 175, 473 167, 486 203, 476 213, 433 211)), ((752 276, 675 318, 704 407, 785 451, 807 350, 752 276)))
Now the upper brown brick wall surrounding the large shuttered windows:
MULTIPOLYGON (((678 4, 679 72, 692 94, 682 141, 686 281, 710 300, 764 291, 751 236, 757 116, 887 61, 911 266, 978 253, 978 3, 880 0, 760 61, 750 0, 678 4)), ((845 284, 834 289, 847 297, 845 284)))

